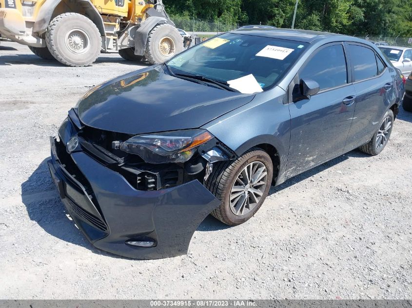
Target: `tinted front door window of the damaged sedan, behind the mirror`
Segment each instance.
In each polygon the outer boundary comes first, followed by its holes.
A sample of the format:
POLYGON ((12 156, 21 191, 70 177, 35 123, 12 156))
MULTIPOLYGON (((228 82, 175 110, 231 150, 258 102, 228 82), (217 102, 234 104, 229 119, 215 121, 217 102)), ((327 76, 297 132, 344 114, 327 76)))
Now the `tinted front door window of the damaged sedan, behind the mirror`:
POLYGON ((321 49, 299 72, 300 79, 312 79, 320 90, 339 87, 348 83, 346 59, 342 45, 321 49))

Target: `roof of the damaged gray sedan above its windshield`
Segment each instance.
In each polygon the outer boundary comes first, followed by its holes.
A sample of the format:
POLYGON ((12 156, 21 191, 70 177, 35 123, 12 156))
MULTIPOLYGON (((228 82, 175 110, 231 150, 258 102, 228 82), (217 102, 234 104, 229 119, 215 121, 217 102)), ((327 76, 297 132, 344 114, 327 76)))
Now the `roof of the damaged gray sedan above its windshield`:
MULTIPOLYGON (((274 38, 290 39, 306 43, 322 40, 332 36, 337 36, 342 40, 360 40, 353 36, 345 36, 330 32, 299 30, 299 29, 282 29, 282 28, 243 28, 230 31, 231 33, 248 34, 254 36, 266 36, 274 38)), ((363 41, 363 40, 362 40, 363 41)))

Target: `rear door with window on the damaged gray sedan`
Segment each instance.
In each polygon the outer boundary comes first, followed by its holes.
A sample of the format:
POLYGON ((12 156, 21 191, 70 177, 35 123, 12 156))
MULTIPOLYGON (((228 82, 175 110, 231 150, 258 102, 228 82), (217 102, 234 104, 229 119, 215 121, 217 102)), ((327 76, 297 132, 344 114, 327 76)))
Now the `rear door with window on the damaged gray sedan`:
POLYGON ((396 102, 396 71, 366 45, 348 43, 356 91, 353 123, 345 151, 368 142, 386 110, 396 102))

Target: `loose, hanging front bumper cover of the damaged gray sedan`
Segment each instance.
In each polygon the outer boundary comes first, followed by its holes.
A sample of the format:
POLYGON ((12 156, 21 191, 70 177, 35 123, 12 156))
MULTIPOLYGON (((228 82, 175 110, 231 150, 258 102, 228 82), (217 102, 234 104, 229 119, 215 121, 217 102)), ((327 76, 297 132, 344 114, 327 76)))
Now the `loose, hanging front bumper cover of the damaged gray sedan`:
POLYGON ((197 180, 138 191, 81 151, 70 155, 81 172, 80 177, 73 176, 59 161, 56 138, 50 141, 48 166, 60 198, 80 231, 101 250, 137 259, 186 254, 200 222, 219 205, 197 180), (154 247, 131 246, 127 241, 153 242, 154 247))

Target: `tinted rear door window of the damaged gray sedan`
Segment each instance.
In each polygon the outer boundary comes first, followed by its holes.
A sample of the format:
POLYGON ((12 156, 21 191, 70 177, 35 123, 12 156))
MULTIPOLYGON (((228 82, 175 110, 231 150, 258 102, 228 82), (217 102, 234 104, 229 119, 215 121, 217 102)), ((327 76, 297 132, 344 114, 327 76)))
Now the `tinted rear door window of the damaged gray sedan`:
POLYGON ((351 62, 355 71, 355 81, 378 75, 375 53, 372 49, 359 45, 349 45, 351 62))

